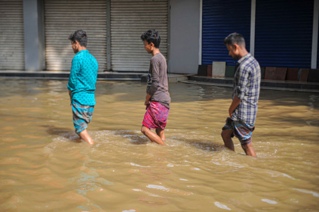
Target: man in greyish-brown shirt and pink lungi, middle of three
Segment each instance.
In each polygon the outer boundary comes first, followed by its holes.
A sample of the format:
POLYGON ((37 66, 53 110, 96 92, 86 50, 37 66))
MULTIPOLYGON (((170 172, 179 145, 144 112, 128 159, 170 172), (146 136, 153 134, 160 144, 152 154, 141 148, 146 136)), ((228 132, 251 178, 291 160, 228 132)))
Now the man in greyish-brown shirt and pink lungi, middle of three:
POLYGON ((147 77, 146 98, 144 105, 146 113, 143 119, 141 132, 151 141, 165 145, 164 129, 171 98, 168 92, 167 64, 165 57, 160 53, 160 34, 156 30, 143 33, 141 39, 144 49, 152 54, 147 77), (156 133, 150 129, 156 129, 156 133))

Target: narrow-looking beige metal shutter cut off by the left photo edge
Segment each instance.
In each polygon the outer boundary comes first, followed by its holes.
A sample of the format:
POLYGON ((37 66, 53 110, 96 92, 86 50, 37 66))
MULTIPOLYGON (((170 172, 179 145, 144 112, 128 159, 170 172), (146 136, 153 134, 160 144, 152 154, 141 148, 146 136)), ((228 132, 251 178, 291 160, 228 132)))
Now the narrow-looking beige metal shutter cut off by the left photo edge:
POLYGON ((25 69, 23 1, 0 0, 0 69, 25 69))

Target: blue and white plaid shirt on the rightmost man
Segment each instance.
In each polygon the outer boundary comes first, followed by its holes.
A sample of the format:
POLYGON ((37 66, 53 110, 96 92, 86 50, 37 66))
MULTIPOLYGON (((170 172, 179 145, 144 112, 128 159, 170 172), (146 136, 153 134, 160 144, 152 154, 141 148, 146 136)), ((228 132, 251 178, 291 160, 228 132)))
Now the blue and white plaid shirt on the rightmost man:
POLYGON ((260 91, 260 66, 250 53, 241 57, 238 60, 238 65, 239 67, 235 73, 232 99, 236 95, 241 102, 233 112, 232 120, 239 120, 253 125, 256 120, 260 91))

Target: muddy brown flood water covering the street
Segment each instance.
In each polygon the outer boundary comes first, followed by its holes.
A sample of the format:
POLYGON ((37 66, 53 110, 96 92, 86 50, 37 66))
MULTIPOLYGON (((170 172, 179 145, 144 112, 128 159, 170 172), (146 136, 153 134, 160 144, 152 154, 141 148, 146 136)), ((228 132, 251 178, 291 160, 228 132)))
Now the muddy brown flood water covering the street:
POLYGON ((140 128, 146 84, 98 81, 74 132, 67 80, 0 79, 1 212, 319 211, 319 94, 261 90, 244 155, 221 128, 231 88, 170 83, 167 146, 140 128))

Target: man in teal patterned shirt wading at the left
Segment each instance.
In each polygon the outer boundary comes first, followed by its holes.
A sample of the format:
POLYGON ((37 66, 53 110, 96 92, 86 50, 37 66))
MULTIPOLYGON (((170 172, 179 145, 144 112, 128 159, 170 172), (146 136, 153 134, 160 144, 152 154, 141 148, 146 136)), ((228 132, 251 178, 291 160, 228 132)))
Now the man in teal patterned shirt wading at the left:
POLYGON ((94 144, 87 133, 95 106, 95 83, 98 74, 98 62, 86 49, 87 36, 83 30, 77 30, 69 36, 72 49, 76 54, 72 59, 68 90, 72 105, 75 132, 81 139, 94 144))

